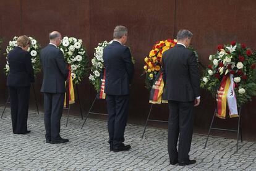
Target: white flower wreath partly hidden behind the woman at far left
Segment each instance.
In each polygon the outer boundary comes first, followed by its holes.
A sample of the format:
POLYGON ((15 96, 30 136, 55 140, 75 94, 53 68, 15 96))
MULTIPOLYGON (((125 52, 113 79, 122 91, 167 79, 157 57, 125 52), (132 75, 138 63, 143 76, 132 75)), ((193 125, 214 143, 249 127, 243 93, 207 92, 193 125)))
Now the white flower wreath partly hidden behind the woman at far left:
MULTIPOLYGON (((30 52, 30 55, 32 57, 31 62, 34 69, 34 75, 36 75, 41 71, 41 64, 40 64, 40 58, 39 58, 41 46, 38 43, 38 41, 36 41, 34 38, 32 37, 28 37, 28 38, 30 38, 31 40, 31 44, 30 44, 30 47, 28 48, 28 52, 30 52)), ((17 46, 17 39, 18 37, 14 36, 14 38, 11 41, 9 41, 9 45, 6 48, 6 67, 4 67, 4 72, 6 73, 6 75, 9 73, 9 64, 7 61, 7 55, 12 49, 14 49, 17 46)))

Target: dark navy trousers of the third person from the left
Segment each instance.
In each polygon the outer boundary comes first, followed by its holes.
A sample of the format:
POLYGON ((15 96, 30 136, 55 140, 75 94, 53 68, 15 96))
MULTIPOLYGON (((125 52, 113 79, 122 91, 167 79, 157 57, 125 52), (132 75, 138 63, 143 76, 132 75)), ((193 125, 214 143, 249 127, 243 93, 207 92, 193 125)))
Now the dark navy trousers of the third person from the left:
POLYGON ((110 146, 118 148, 124 142, 126 129, 129 95, 106 95, 108 108, 108 133, 110 146))

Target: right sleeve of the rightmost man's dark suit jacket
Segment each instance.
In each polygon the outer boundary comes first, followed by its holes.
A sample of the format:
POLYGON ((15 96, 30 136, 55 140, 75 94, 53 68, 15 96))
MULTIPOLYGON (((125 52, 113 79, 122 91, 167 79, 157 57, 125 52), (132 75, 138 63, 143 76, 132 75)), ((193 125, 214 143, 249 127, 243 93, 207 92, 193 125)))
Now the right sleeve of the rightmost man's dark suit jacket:
POLYGON ((198 72, 197 59, 195 57, 194 52, 191 52, 189 59, 189 75, 190 75, 190 83, 192 84, 192 88, 194 91, 195 98, 200 96, 200 78, 198 72))

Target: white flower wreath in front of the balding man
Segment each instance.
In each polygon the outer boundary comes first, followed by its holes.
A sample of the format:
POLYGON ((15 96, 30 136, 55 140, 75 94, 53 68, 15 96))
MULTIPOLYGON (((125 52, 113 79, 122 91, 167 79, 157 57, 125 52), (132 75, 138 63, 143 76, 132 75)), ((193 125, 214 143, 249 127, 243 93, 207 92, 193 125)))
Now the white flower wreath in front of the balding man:
POLYGON ((82 40, 64 36, 59 49, 64 54, 67 64, 70 64, 73 83, 79 84, 88 73, 88 59, 82 40))

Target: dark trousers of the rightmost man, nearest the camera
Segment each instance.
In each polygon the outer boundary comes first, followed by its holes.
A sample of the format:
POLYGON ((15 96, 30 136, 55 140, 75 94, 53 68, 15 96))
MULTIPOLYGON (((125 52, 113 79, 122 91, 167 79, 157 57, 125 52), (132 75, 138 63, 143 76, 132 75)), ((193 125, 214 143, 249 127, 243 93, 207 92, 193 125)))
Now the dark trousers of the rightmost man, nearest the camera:
POLYGON ((168 101, 168 152, 171 162, 189 160, 189 151, 193 134, 194 102, 168 101), (179 151, 177 140, 179 137, 179 151))

